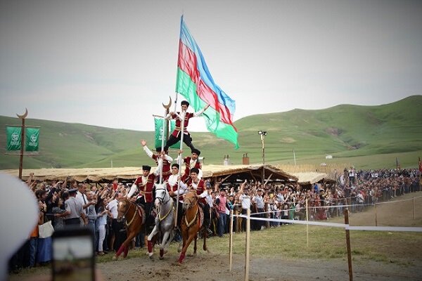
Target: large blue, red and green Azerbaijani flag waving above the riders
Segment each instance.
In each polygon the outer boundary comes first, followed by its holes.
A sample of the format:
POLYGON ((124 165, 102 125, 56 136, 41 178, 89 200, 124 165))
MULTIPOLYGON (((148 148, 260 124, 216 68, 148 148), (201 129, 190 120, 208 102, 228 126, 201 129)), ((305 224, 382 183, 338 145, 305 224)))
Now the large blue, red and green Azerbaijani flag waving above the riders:
POLYGON ((208 131, 238 145, 238 133, 233 124, 236 103, 212 79, 195 39, 180 20, 179 58, 177 60, 176 92, 184 96, 195 111, 209 104, 203 113, 208 131))

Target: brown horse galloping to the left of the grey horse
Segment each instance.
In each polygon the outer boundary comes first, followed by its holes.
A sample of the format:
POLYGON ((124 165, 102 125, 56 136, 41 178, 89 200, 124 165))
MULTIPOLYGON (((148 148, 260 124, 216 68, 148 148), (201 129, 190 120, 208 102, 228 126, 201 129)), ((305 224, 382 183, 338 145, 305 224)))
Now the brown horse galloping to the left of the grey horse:
POLYGON ((124 226, 126 228, 127 239, 124 240, 115 256, 113 256, 114 260, 117 259, 122 252, 124 252, 123 257, 126 258, 130 242, 141 231, 141 228, 145 223, 145 211, 143 210, 143 207, 129 201, 127 197, 118 199, 117 211, 119 213, 117 215, 117 221, 122 221, 123 217, 126 218, 124 226))

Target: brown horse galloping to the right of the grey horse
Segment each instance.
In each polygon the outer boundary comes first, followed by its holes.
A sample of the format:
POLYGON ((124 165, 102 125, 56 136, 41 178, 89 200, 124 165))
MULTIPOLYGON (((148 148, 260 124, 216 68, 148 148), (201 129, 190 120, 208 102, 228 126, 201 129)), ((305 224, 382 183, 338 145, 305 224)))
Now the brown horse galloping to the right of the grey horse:
POLYGON ((198 232, 203 230, 204 238, 204 251, 207 249, 207 230, 203 228, 203 210, 198 206, 198 195, 195 191, 190 191, 184 196, 183 209, 185 210, 184 216, 181 218, 181 237, 183 237, 183 248, 179 256, 179 263, 181 263, 186 254, 186 250, 195 239, 193 247, 193 254, 196 254, 196 240, 198 239, 198 232))

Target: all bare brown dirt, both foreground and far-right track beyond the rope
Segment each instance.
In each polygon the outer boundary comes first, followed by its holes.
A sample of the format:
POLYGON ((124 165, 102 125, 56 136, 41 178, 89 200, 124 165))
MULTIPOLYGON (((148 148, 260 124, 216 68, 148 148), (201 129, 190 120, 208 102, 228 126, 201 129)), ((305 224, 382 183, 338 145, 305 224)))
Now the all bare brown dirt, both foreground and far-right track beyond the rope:
MULTIPOLYGON (((420 195, 422 195, 422 192, 405 195, 396 200, 409 199, 412 196, 420 195)), ((378 226, 389 225, 390 223, 390 225, 394 226, 421 226, 421 210, 422 197, 418 197, 416 201, 416 220, 413 219, 411 203, 406 202, 402 205, 381 204, 378 207, 378 226), (401 210, 401 213, 411 215, 395 218, 397 217, 397 208, 401 210)), ((374 211, 374 209, 371 209, 359 214, 353 214, 351 216, 351 225, 365 225, 368 221, 373 222, 374 211)), ((228 237, 224 239, 228 239, 228 237)), ((146 251, 146 249, 136 249, 134 251, 146 251)), ((155 259, 150 260, 146 253, 140 252, 138 255, 130 256, 128 259, 97 263, 96 267, 102 275, 102 281, 245 280, 245 256, 241 254, 234 255, 232 272, 229 272, 228 254, 210 254, 199 248, 198 254, 196 256, 186 256, 182 265, 176 263, 179 254, 175 251, 169 251, 162 261, 158 259, 157 254, 158 251, 155 249, 155 259)), ((359 256, 354 256, 352 263, 353 280, 422 281, 422 261, 403 266, 397 263, 385 263, 385 261, 360 260, 359 256)), ((39 268, 36 273, 23 270, 18 275, 9 275, 8 280, 46 281, 49 280, 49 274, 49 268, 39 268), (44 275, 44 278, 40 278, 42 275, 44 275)), ((260 259, 251 256, 249 280, 336 281, 349 280, 349 273, 347 259, 260 259)))

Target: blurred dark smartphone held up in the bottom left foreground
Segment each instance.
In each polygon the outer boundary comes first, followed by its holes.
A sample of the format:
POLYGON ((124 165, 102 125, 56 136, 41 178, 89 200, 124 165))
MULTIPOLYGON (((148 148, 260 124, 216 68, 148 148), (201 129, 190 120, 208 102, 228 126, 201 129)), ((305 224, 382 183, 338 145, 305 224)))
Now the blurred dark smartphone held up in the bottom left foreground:
POLYGON ((94 281, 94 238, 88 228, 55 230, 52 235, 53 281, 94 281))

